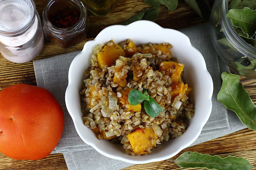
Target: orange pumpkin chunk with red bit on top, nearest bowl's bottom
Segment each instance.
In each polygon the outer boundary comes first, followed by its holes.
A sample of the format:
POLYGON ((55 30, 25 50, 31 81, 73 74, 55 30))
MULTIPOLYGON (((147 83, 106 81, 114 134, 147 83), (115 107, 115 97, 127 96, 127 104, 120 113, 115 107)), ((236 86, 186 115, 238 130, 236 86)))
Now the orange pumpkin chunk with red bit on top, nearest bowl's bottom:
POLYGON ((153 128, 138 128, 128 134, 127 138, 132 145, 133 152, 137 155, 148 154, 149 152, 146 149, 153 148, 156 145, 156 140, 158 139, 153 128))

